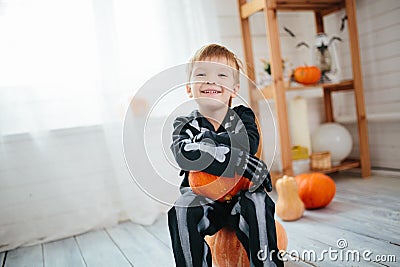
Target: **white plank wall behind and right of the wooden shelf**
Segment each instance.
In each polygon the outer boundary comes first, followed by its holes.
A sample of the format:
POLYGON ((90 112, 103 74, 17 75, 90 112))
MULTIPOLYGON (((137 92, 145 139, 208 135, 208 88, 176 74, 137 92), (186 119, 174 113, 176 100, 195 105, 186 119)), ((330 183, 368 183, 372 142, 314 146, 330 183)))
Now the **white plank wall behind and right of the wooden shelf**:
MULTIPOLYGON (((398 114, 400 113, 400 50, 398 49, 400 47, 400 1, 357 0, 356 7, 367 115, 398 114)), ((217 1, 217 10, 222 42, 243 59, 237 1, 217 1)), ((341 68, 339 78, 351 78, 347 28, 343 32, 339 30, 340 19, 343 15, 344 11, 341 11, 326 17, 325 31, 330 36, 335 35, 343 39, 343 43, 335 44, 341 68)), ((263 14, 252 16, 250 22, 256 73, 259 74, 262 72, 260 58, 268 58, 263 14)), ((291 67, 310 62, 310 52, 305 49, 296 50, 294 46, 300 40, 305 40, 309 44, 313 43, 316 31, 313 15, 310 12, 282 12, 278 13, 278 23, 282 55, 291 62, 291 67), (296 39, 289 37, 284 32, 283 26, 290 28, 296 34, 296 39)), ((323 122, 324 118, 322 94, 317 98, 315 94, 313 96, 313 98, 308 98, 311 131, 323 122)), ((354 114, 353 93, 335 94, 335 117, 339 119, 343 116, 354 117, 354 114)), ((345 126, 353 136, 352 156, 357 157, 356 124, 346 123, 345 126)), ((371 120, 368 128, 372 166, 400 169, 400 153, 398 153, 400 141, 397 134, 400 132, 400 121, 371 120)), ((270 129, 264 127, 263 130, 264 136, 271 136, 270 129)))

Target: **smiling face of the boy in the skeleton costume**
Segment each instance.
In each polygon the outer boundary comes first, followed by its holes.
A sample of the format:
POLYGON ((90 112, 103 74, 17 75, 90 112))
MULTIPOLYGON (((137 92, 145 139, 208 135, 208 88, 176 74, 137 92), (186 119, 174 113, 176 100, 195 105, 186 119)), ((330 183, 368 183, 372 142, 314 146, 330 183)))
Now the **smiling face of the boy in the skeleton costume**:
MULTIPOLYGON (((189 97, 194 97, 204 108, 226 107, 236 97, 236 82, 232 64, 225 58, 207 58, 193 66, 190 83, 186 86, 189 97)), ((238 71, 236 75, 239 75, 238 71)))

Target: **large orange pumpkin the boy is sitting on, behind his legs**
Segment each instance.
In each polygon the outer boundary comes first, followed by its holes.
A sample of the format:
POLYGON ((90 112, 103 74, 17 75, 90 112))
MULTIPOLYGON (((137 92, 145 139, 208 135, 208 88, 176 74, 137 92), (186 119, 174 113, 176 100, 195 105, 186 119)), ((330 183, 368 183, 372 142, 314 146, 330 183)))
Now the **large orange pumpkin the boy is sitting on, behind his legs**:
MULTIPOLYGON (((288 239, 283 226, 275 221, 276 236, 279 250, 286 250, 288 239)), ((222 228, 213 236, 207 236, 206 241, 211 249, 213 266, 216 267, 248 267, 250 266, 246 250, 231 228, 222 228)))

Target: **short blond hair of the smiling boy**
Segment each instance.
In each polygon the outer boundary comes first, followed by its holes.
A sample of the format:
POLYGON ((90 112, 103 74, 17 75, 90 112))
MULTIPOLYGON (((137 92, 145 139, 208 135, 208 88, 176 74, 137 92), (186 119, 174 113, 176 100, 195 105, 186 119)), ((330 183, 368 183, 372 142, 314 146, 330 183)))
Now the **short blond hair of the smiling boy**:
POLYGON ((209 44, 201 47, 199 50, 196 51, 196 53, 193 55, 193 57, 189 61, 188 65, 188 80, 190 81, 190 77, 193 72, 193 67, 196 61, 205 61, 206 59, 210 58, 225 58, 228 64, 232 64, 231 67, 236 69, 237 71, 234 71, 234 79, 235 82, 239 83, 239 71, 242 70, 242 62, 240 59, 236 57, 236 55, 230 51, 228 48, 225 46, 219 45, 219 44, 209 44))

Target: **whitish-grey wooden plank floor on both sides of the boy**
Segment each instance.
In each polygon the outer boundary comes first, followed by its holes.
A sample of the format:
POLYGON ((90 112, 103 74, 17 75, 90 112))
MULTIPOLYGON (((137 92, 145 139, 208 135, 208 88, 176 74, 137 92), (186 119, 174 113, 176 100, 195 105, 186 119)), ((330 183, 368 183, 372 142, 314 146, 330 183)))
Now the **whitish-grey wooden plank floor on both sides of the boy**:
MULTIPOLYGON (((282 222, 292 255, 286 266, 400 266, 400 177, 361 179, 340 173, 333 178, 337 193, 328 207, 282 222), (339 248, 338 242, 346 247, 339 248), (353 254, 357 251, 359 260, 353 254)), ((272 198, 276 200, 275 192, 272 198)), ((20 266, 174 266, 167 219, 162 216, 151 226, 124 222, 0 253, 0 267, 20 266)))

